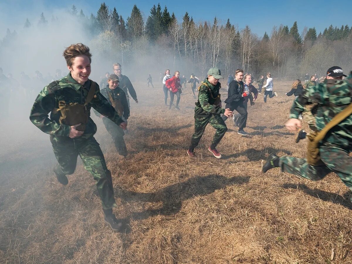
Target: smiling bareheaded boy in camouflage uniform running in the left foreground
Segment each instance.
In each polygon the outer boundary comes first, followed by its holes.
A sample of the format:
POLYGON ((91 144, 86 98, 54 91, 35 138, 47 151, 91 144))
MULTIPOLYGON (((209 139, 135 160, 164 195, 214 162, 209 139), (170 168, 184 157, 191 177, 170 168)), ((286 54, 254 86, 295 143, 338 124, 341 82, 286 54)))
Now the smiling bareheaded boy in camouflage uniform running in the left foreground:
MULTIPOLYGON (((121 128, 126 128, 127 124, 102 96, 98 84, 88 79, 92 56, 89 48, 82 43, 72 44, 63 52, 63 56, 70 73, 43 88, 34 101, 30 120, 40 130, 50 134, 50 141, 58 162, 54 167, 54 172, 60 183, 68 184, 66 175, 73 174, 77 156, 81 157, 84 168, 93 175, 96 181, 104 220, 113 230, 118 231, 121 223, 112 213, 112 208, 116 206, 112 177, 99 144, 94 138, 96 125, 90 118, 90 108, 93 107, 121 128), (91 100, 87 100, 88 96, 91 100), (86 100, 89 103, 86 103, 86 100), (65 108, 60 108, 61 106, 65 108), (85 109, 86 124, 64 124, 62 118, 65 112, 63 113, 63 110, 66 111, 72 106, 85 109), (50 118, 48 117, 49 112, 51 112, 50 118)), ((76 113, 70 116, 78 118, 76 113)), ((65 118, 68 118, 68 115, 65 118)))

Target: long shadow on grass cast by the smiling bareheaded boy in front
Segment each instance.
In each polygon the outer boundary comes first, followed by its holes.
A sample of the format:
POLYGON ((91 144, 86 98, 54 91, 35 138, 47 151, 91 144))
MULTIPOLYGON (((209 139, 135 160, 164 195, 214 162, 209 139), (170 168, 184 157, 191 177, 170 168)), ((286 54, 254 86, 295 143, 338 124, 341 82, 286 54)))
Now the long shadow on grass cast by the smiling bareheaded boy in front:
POLYGON ((225 177, 221 175, 196 176, 187 181, 175 183, 152 193, 116 190, 116 197, 123 201, 162 202, 157 209, 133 212, 129 219, 141 220, 154 215, 173 215, 180 212, 182 202, 196 196, 205 196, 226 186, 248 183, 249 176, 225 177))

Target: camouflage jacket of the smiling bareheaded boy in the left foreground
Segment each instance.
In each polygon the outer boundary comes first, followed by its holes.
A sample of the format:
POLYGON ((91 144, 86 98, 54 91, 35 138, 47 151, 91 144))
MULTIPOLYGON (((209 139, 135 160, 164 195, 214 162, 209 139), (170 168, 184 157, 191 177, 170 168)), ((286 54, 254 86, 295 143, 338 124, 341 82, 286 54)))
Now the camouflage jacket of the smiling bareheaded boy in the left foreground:
MULTIPOLYGON (((91 80, 88 80, 83 85, 81 85, 72 78, 71 74, 68 74, 66 77, 63 77, 59 81, 54 81, 45 86, 34 101, 29 117, 30 120, 35 126, 47 134, 53 136, 68 137, 70 134, 70 126, 60 124, 59 118, 61 117, 61 113, 56 111, 52 112, 52 110, 58 108, 59 101, 64 101, 67 104, 84 104, 91 82, 91 80), (49 113, 50 119, 48 117, 49 113)), ((98 84, 95 85, 96 87, 94 97, 92 101, 90 101, 87 105, 89 119, 86 124, 86 130, 84 131, 84 134, 79 137, 82 139, 92 137, 96 132, 96 125, 90 118, 91 107, 96 109, 96 111, 102 115, 108 117, 117 125, 123 122, 112 105, 110 105, 105 97, 100 93, 98 84)))

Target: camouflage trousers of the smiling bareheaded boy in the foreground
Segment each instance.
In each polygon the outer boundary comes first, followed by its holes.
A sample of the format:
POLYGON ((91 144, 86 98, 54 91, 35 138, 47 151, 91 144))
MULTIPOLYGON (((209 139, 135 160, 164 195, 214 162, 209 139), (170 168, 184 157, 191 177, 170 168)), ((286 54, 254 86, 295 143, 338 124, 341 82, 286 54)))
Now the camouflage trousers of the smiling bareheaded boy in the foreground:
POLYGON ((94 137, 69 138, 50 135, 50 141, 58 164, 54 171, 59 175, 73 174, 78 155, 81 157, 84 169, 93 175, 96 188, 104 209, 116 206, 111 173, 108 170, 99 143, 94 137))

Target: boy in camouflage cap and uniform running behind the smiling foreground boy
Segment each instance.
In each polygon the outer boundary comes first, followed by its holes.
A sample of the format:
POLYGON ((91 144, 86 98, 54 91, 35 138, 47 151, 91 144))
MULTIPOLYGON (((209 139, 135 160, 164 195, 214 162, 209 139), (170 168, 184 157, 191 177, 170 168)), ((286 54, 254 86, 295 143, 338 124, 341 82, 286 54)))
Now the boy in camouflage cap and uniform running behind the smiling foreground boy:
MULTIPOLYGON (((100 90, 100 93, 108 100, 111 105, 115 105, 116 111, 124 118, 124 120, 127 120, 130 116, 130 109, 128 108, 126 95, 124 91, 122 91, 122 89, 119 87, 119 77, 116 74, 111 74, 109 75, 107 82, 108 84, 105 86, 105 88, 100 90), (121 109, 119 109, 119 107, 121 109)), ((98 117, 103 119, 106 130, 111 135, 119 154, 126 157, 127 149, 124 140, 124 130, 115 124, 115 122, 111 121, 109 118, 106 118, 104 115, 101 115, 96 111, 94 112, 98 117)))

